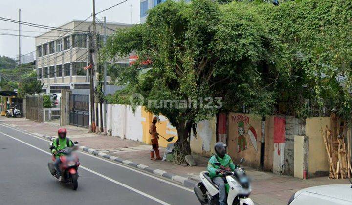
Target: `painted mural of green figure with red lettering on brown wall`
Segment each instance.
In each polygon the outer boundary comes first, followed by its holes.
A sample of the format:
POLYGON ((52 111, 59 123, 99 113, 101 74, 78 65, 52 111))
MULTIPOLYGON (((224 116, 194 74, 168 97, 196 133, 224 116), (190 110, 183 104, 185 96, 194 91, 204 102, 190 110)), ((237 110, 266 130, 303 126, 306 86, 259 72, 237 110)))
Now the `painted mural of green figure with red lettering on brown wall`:
POLYGON ((249 117, 239 114, 231 117, 233 122, 238 123, 237 149, 242 152, 248 148, 247 139, 252 143, 253 148, 258 151, 257 132, 254 127, 249 124, 249 117), (247 131, 245 131, 247 130, 247 131))

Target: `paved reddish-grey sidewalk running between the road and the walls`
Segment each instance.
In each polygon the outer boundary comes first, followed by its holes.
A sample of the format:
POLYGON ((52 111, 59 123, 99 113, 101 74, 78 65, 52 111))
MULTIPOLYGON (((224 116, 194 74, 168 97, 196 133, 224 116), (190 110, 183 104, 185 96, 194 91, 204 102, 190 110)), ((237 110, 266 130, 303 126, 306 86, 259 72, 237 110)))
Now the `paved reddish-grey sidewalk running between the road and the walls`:
MULTIPOLYGON (((60 127, 58 123, 38 123, 26 119, 14 119, 0 117, 1 123, 6 123, 11 127, 27 130, 38 135, 56 136, 56 132, 60 127)), ((197 166, 181 166, 165 161, 151 161, 149 159, 149 151, 151 145, 141 142, 124 140, 118 137, 104 136, 99 134, 88 133, 88 129, 66 126, 68 137, 74 141, 78 141, 79 145, 87 146, 104 152, 110 156, 118 157, 123 160, 132 161, 135 164, 145 164, 154 169, 160 169, 168 173, 173 173, 191 180, 198 180, 199 172, 206 170, 209 158, 194 155, 197 166)), ((161 154, 164 153, 161 148, 161 154)), ((277 175, 269 172, 261 172, 247 168, 247 174, 252 178, 252 194, 251 198, 256 204, 263 205, 284 205, 287 204, 290 196, 296 191, 316 185, 325 184, 349 184, 345 180, 330 180, 327 177, 319 177, 308 180, 300 180, 291 176, 277 175)))

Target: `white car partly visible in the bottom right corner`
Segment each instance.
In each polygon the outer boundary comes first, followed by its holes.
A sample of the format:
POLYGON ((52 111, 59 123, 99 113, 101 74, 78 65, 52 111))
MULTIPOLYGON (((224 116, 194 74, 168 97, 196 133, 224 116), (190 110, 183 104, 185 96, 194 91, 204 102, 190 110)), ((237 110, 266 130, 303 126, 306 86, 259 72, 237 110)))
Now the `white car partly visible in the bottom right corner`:
POLYGON ((294 193, 288 205, 352 205, 351 184, 313 186, 294 193))

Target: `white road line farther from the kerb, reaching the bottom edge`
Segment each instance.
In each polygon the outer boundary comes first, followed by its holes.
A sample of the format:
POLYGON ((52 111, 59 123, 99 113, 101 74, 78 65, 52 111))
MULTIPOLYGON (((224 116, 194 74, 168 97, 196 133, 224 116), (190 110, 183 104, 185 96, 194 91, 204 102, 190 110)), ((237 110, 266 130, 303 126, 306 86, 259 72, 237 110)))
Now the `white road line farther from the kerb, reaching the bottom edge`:
MULTIPOLYGON (((5 135, 5 136, 7 136, 7 137, 9 137, 9 138, 12 138, 12 139, 14 139, 14 140, 17 140, 18 142, 24 143, 24 144, 26 144, 26 145, 28 145, 28 146, 30 146, 30 147, 33 147, 33 148, 35 148, 35 149, 37 149, 37 150, 39 150, 39 151, 42 151, 42 152, 44 152, 44 153, 46 153, 46 154, 48 154, 48 155, 51 155, 51 153, 49 153, 49 152, 47 152, 47 151, 45 151, 45 150, 43 150, 43 149, 41 149, 41 148, 39 148, 39 147, 36 147, 36 146, 34 146, 34 145, 32 145, 32 144, 23 142, 22 140, 19 140, 19 139, 15 138, 15 137, 12 137, 12 136, 10 136, 10 135, 8 135, 8 134, 6 134, 6 133, 0 132, 0 134, 3 134, 3 135, 5 135)), ((106 179, 106 180, 109 180, 109 181, 112 182, 112 183, 118 184, 118 185, 123 186, 123 187, 125 187, 125 188, 128 188, 128 189, 130 189, 131 191, 134 191, 134 192, 136 192, 136 193, 138 193, 138 194, 140 194, 140 195, 143 195, 143 196, 145 196, 145 197, 147 197, 147 198, 149 198, 149 199, 152 199, 152 200, 154 200, 155 202, 158 202, 158 203, 163 204, 163 205, 171 205, 171 204, 168 204, 168 203, 166 203, 166 202, 164 202, 164 201, 162 201, 162 200, 160 200, 160 199, 155 198, 154 196, 151 196, 151 195, 146 194, 146 193, 144 193, 144 192, 142 192, 142 191, 139 191, 138 189, 135 189, 135 188, 133 188, 133 187, 131 187, 131 186, 129 186, 129 185, 123 184, 123 183, 118 182, 118 181, 116 181, 116 180, 114 180, 114 179, 111 179, 110 177, 107 177, 107 176, 105 176, 105 175, 103 175, 103 174, 100 174, 100 173, 98 173, 98 172, 96 172, 96 171, 93 171, 93 170, 91 170, 91 169, 88 169, 87 167, 84 167, 84 166, 80 166, 80 167, 81 167, 82 169, 84 169, 84 170, 87 170, 88 172, 91 172, 91 173, 93 173, 93 174, 99 176, 99 177, 102 177, 102 178, 104 178, 104 179, 106 179)))

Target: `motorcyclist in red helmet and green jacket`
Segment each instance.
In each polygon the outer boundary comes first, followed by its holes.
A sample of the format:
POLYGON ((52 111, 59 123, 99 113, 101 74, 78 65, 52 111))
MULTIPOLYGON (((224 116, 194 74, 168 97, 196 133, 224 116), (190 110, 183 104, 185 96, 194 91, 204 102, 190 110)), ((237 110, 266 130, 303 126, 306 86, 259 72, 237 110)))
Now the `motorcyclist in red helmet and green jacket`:
POLYGON ((60 128, 58 130, 58 138, 56 138, 53 141, 52 149, 51 149, 51 153, 56 158, 54 165, 55 165, 55 169, 56 169, 57 174, 60 176, 59 182, 62 181, 62 176, 61 176, 61 171, 60 171, 60 163, 61 163, 60 156, 62 156, 62 154, 57 153, 57 152, 62 149, 65 149, 66 147, 74 146, 74 143, 72 143, 72 141, 70 139, 66 138, 66 134, 67 134, 66 128, 60 128))

